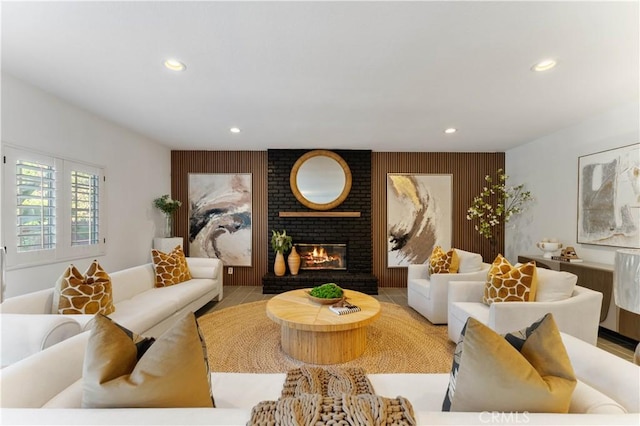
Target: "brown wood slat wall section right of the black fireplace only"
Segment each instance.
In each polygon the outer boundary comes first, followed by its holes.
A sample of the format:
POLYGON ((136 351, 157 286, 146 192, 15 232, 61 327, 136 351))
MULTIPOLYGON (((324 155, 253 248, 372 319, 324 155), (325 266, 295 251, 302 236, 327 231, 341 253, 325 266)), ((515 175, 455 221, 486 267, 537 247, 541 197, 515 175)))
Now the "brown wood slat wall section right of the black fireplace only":
MULTIPOLYGON (((374 152, 372 168, 373 274, 381 287, 406 287, 407 268, 387 267, 387 173, 453 175, 453 247, 493 261, 489 242, 467 220, 467 209, 486 185, 484 177, 504 169, 504 153, 374 152)), ((504 230, 496 250, 504 252, 504 230)), ((445 250, 448 247, 443 247, 445 250)))

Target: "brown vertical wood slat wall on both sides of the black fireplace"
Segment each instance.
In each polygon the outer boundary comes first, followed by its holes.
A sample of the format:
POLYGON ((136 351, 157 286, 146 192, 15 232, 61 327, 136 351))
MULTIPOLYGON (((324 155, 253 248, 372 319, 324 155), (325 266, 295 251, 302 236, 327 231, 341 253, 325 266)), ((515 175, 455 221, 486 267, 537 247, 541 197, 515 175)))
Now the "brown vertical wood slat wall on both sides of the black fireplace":
MULTIPOLYGON (((267 151, 172 151, 171 193, 182 201, 176 214, 175 233, 185 236, 188 255, 188 175, 189 173, 252 173, 253 174, 253 250, 252 267, 234 267, 233 274, 224 268, 225 285, 262 285, 268 271, 269 250, 267 211, 267 151)), ((453 236, 454 247, 481 253, 492 261, 491 247, 466 219, 473 197, 485 186, 485 175, 494 175, 504 168, 504 153, 432 153, 373 152, 371 158, 373 274, 380 287, 405 287, 406 268, 387 268, 387 173, 435 173, 453 175, 453 236)), ((497 246, 504 252, 504 230, 497 246)))

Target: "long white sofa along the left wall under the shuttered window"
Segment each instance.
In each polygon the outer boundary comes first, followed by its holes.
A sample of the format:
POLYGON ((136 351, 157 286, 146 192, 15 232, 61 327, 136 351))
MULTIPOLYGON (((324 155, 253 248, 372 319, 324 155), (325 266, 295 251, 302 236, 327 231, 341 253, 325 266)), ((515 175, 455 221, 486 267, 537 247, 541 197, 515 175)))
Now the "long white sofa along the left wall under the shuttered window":
MULTIPOLYGON (((188 257, 192 279, 155 287, 152 263, 109 273, 116 322, 144 336, 157 337, 176 319, 211 300, 222 300, 222 262, 188 257)), ((53 287, 9 298, 0 304, 2 366, 12 364, 87 329, 92 315, 51 314, 53 287)))

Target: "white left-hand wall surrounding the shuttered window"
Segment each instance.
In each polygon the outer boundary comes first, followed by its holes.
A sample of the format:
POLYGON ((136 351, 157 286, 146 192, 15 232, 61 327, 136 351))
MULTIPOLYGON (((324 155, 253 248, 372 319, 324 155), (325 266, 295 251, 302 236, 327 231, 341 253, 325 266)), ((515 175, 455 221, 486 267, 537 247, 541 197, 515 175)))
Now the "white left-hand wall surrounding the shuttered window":
MULTIPOLYGON (((107 272, 150 261, 153 237, 162 232, 162 214, 152 201, 171 192, 169 148, 6 73, 2 143, 105 167, 107 252, 98 260, 107 272)), ((73 263, 84 272, 91 260, 73 263)), ((5 297, 52 287, 67 266, 64 262, 8 270, 5 297)))

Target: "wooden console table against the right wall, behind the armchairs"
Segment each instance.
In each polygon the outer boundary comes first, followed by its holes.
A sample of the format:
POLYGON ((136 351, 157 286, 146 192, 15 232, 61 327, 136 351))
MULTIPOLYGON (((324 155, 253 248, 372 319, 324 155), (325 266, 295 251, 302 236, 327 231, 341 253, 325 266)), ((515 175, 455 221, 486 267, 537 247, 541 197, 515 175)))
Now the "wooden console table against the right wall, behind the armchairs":
POLYGON ((613 265, 597 262, 562 262, 537 255, 520 255, 518 262, 535 260, 540 267, 578 276, 578 285, 602 293, 600 326, 640 341, 640 315, 618 308, 613 300, 613 265))

